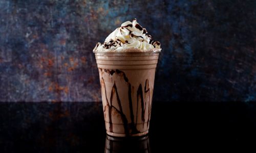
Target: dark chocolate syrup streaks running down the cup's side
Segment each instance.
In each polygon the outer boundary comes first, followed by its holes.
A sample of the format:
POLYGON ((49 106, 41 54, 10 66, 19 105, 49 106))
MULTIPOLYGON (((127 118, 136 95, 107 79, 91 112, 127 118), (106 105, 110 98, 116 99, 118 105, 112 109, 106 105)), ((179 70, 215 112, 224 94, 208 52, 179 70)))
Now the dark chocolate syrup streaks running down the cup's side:
MULTIPOLYGON (((100 71, 102 71, 101 68, 99 68, 99 69, 100 69, 100 71)), ((116 73, 117 75, 120 75, 120 77, 123 78, 124 81, 129 85, 128 96, 129 96, 129 109, 130 109, 130 114, 131 114, 131 116, 130 116, 131 117, 131 123, 130 124, 128 124, 127 118, 126 118, 126 116, 123 113, 122 106, 121 106, 121 100, 120 100, 118 92, 117 92, 116 83, 114 82, 114 85, 112 87, 111 96, 110 96, 110 103, 109 103, 108 97, 106 96, 105 82, 104 82, 104 79, 101 78, 101 84, 103 84, 104 88, 105 88, 104 89, 105 90, 105 99, 106 99, 106 106, 105 107, 109 108, 109 121, 110 121, 110 127, 109 128, 110 128, 110 132, 113 132, 113 124, 112 124, 112 114, 111 114, 111 112, 112 112, 112 109, 115 109, 117 111, 117 113, 120 114, 121 119, 123 121, 125 135, 129 136, 129 130, 131 130, 131 134, 139 133, 139 131, 136 128, 137 120, 138 120, 138 104, 139 104, 139 101, 141 103, 141 111, 142 111, 141 112, 141 120, 143 122, 143 129, 144 129, 145 109, 146 109, 146 108, 144 108, 142 85, 140 84, 139 87, 138 87, 138 90, 137 90, 137 112, 136 112, 137 113, 136 114, 137 118, 136 118, 136 123, 135 123, 134 122, 134 113, 133 113, 133 103, 132 103, 132 85, 131 85, 131 83, 129 83, 129 80, 126 77, 125 73, 123 71, 118 70, 118 69, 116 69, 116 70, 104 69, 104 72, 109 73, 110 75, 113 75, 114 73, 116 73), (116 94, 119 110, 112 105, 114 94, 116 94)), ((150 102, 150 88, 149 88, 149 85, 148 85, 148 80, 146 79, 145 87, 144 87, 144 93, 147 93, 147 92, 149 93, 149 97, 148 97, 148 103, 149 103, 150 102)), ((145 101, 145 106, 146 106, 146 101, 145 101)), ((103 110, 104 112, 106 110, 105 107, 104 107, 104 110, 103 110)), ((149 120, 150 120, 151 108, 152 108, 152 104, 151 104, 151 106, 148 105, 147 126, 148 126, 148 123, 149 123, 149 120)))

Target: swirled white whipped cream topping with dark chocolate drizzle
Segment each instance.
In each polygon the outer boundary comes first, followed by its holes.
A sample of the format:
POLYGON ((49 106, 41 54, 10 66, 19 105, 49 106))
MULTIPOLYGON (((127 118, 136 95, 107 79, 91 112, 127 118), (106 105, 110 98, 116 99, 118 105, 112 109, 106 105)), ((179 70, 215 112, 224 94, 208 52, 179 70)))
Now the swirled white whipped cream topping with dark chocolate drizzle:
POLYGON ((97 43, 93 52, 159 52, 160 42, 153 41, 145 28, 137 22, 136 18, 121 24, 121 27, 106 37, 103 44, 97 43))

